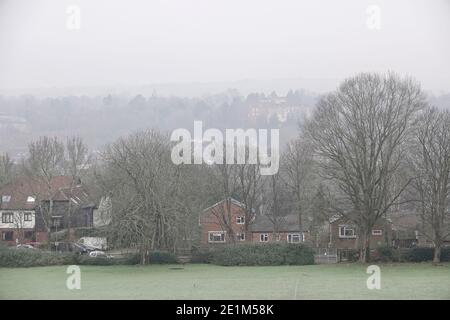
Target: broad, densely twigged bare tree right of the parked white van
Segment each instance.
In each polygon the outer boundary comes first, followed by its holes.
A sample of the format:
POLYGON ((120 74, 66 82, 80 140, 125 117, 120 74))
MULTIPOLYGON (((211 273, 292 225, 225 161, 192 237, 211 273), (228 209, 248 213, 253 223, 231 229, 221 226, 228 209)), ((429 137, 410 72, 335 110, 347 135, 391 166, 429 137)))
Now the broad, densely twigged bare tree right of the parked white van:
MULTIPOLYGON (((111 197, 111 240, 136 245, 141 263, 151 250, 174 250, 193 206, 189 171, 170 159, 168 135, 142 131, 120 138, 102 155, 100 181, 111 197)), ((196 210, 196 209, 195 209, 196 210)))

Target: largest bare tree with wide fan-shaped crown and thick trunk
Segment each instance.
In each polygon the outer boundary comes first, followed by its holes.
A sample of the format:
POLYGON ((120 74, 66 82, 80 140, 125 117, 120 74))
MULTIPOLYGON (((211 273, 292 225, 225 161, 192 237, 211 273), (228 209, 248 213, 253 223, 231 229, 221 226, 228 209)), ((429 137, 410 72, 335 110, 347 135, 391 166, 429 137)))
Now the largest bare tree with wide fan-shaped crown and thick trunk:
POLYGON ((372 227, 407 185, 395 193, 390 188, 411 123, 424 106, 411 79, 363 73, 323 97, 308 124, 324 178, 339 195, 333 209, 358 226, 361 262, 369 259, 372 227))

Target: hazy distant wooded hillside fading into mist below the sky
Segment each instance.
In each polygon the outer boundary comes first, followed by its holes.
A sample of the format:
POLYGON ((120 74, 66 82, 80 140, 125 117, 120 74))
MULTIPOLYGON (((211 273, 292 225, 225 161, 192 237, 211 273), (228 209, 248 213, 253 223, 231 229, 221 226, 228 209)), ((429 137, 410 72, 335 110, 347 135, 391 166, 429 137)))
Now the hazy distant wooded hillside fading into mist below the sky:
MULTIPOLYGON (((265 114, 249 118, 251 107, 263 99, 273 99, 275 92, 265 95, 241 95, 237 90, 199 98, 109 94, 106 96, 0 96, 0 152, 14 159, 26 153, 29 137, 80 136, 93 150, 140 129, 162 131, 191 126, 202 120, 212 128, 267 127, 287 128, 295 134, 298 114, 280 123, 276 116, 265 114)), ((305 90, 289 91, 289 105, 312 107, 317 95, 305 90)), ((284 129, 283 129, 284 130, 284 129)))

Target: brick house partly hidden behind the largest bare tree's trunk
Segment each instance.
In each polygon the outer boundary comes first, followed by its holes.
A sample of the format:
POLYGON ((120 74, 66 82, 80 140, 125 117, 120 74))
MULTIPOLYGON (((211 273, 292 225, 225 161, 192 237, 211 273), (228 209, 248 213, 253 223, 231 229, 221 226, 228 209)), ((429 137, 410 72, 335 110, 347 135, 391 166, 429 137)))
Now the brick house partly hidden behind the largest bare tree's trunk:
MULTIPOLYGON (((359 246, 358 228, 341 215, 330 218, 328 232, 322 237, 321 245, 337 249, 357 249, 359 246)), ((376 248, 392 241, 392 223, 380 219, 371 230, 370 247, 376 248)))

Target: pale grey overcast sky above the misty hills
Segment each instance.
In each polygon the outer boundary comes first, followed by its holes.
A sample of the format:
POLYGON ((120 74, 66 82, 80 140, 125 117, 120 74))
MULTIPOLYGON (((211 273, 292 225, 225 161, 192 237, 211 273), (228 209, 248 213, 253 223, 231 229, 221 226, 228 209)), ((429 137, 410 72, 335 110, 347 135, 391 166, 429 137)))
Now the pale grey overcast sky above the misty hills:
POLYGON ((0 0, 0 93, 387 70, 450 91, 450 0, 0 0))

